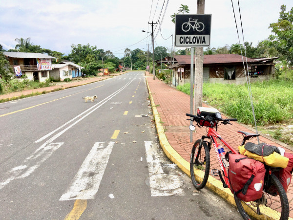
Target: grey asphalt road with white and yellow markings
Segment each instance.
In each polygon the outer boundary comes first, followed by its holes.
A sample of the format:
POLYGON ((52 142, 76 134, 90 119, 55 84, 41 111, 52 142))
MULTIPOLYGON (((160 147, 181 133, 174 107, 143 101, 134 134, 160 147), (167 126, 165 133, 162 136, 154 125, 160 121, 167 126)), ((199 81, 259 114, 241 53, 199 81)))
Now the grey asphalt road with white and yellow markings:
POLYGON ((1 103, 0 125, 1 219, 241 219, 162 152, 144 72, 1 103))

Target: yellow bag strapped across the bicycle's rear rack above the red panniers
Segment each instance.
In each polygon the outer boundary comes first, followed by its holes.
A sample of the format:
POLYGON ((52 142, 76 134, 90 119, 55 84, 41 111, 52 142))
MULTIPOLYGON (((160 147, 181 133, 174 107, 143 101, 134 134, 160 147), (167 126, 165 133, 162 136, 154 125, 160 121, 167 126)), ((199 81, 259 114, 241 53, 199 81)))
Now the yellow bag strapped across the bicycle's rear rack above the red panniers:
POLYGON ((275 151, 273 151, 272 154, 265 156, 265 155, 253 154, 252 152, 246 150, 245 146, 239 146, 238 150, 240 154, 243 154, 245 156, 258 160, 262 163, 265 163, 266 165, 270 167, 286 168, 288 165, 289 158, 282 156, 276 153, 275 151))

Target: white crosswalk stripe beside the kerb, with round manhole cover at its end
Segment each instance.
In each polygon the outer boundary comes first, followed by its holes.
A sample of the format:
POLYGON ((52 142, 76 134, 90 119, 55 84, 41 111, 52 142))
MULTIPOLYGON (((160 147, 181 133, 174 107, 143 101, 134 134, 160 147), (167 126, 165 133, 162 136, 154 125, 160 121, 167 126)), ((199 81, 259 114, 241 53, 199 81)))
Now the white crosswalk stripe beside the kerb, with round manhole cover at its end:
POLYGON ((164 173, 161 165, 166 163, 161 159, 163 153, 158 153, 158 147, 152 141, 145 141, 145 147, 151 196, 183 196, 183 180, 176 175, 164 173))

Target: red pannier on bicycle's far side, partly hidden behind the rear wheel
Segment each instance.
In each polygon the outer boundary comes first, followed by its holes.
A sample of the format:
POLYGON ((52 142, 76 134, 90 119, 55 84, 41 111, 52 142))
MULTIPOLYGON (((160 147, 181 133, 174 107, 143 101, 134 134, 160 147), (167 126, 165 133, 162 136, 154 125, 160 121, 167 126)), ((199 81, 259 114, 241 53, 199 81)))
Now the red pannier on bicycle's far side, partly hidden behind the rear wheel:
MULTIPOLYGON (((284 156, 289 158, 289 162, 286 168, 282 168, 279 171, 272 172, 281 182, 284 187, 285 192, 287 192, 288 187, 291 183, 292 172, 293 172, 293 154, 284 153, 284 156)), ((269 194, 274 195, 276 193, 276 188, 272 183, 268 183, 268 186, 265 186, 265 191, 269 194)))

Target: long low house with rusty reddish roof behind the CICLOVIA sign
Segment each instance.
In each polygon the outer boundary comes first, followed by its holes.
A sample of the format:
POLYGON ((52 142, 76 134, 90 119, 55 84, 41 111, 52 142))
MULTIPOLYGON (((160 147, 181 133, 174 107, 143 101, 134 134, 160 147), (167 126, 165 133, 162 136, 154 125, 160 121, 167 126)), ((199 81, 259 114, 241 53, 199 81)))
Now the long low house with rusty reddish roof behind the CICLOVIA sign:
MULTIPOLYGON (((174 56, 171 65, 174 86, 190 83, 190 55, 174 56)), ((194 56, 195 63, 196 56, 194 56)), ((237 54, 204 55, 203 82, 243 84, 246 75, 243 62, 248 67, 250 81, 263 81, 272 78, 275 73, 273 58, 248 58, 237 54), (247 62, 247 65, 246 65, 247 62)))

